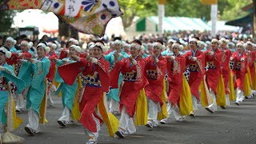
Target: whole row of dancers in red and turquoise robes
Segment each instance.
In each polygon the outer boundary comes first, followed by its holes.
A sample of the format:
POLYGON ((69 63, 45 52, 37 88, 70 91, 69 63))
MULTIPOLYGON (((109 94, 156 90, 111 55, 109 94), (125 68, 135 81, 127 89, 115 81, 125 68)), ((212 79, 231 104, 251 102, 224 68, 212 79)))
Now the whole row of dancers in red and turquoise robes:
POLYGON ((229 106, 235 96, 235 103, 240 105, 244 95, 250 96, 254 90, 254 44, 238 42, 232 54, 225 46, 220 49, 223 43, 227 40, 214 38, 210 49, 202 51, 198 39, 192 38, 190 50, 181 54, 182 43, 170 40, 168 50, 172 54, 163 56, 166 47, 161 40, 154 42, 147 55, 139 40, 131 42, 129 54, 122 50, 120 40, 104 54, 102 41, 91 43, 88 53, 82 53, 78 41, 71 39, 69 49, 62 49, 60 54, 54 54, 56 42, 38 44, 38 58, 34 59, 27 48, 29 42, 22 42, 25 50, 13 52, 6 62, 26 83, 23 94, 29 111, 28 134, 38 133, 38 123, 46 122, 47 89, 58 82, 54 91, 56 95, 61 92, 63 103, 58 123, 66 126, 78 120, 90 135, 87 143, 95 143, 103 122, 110 136, 124 138, 136 132, 135 125, 153 128, 158 120, 166 123, 171 112, 177 121, 183 121, 185 115, 194 117, 198 101, 210 113, 217 106, 229 106), (113 114, 120 106, 119 121, 109 113, 106 97, 113 114))

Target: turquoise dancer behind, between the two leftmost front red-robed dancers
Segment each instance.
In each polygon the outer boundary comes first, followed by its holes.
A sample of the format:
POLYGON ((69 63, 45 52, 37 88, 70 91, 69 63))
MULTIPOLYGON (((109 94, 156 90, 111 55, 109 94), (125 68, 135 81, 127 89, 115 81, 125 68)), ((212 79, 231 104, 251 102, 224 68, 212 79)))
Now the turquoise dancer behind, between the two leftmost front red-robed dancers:
MULTIPOLYGON (((110 62, 110 70, 113 69, 117 61, 119 62, 122 60, 122 58, 129 57, 129 55, 122 50, 122 45, 123 45, 122 41, 115 40, 114 45, 115 45, 115 50, 110 52, 110 54, 105 55, 106 61, 110 62)), ((111 89, 110 93, 107 94, 107 99, 110 100, 110 112, 112 114, 119 114, 119 102, 120 102, 119 88, 121 84, 122 84, 122 74, 120 74, 118 78, 118 86, 119 86, 118 89, 111 89)))

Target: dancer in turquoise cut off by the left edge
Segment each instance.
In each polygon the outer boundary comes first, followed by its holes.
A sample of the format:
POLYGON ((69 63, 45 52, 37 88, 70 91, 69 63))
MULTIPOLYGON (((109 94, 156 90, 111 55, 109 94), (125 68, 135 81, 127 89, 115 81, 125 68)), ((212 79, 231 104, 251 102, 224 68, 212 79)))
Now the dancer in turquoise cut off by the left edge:
MULTIPOLYGON (((5 113, 6 104, 8 102, 9 92, 11 89, 10 82, 14 83, 17 88, 17 93, 21 93, 25 88, 25 82, 17 78, 14 74, 13 67, 6 63, 6 58, 10 58, 11 53, 5 47, 0 48, 0 124, 2 127, 6 127, 7 117, 5 113)), ((14 88, 14 86, 12 87, 14 88)), ((12 119, 15 122, 15 119, 12 119)), ((18 125, 20 122, 18 122, 18 125)), ((1 134, 2 134, 1 129, 1 134)), ((4 131, 6 132, 6 131, 4 131)))

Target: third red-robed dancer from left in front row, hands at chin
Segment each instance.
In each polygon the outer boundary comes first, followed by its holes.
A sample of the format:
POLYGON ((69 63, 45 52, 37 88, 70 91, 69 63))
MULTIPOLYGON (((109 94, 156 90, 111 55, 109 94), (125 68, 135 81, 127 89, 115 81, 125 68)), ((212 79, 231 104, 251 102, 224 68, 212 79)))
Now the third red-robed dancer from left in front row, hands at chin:
POLYGON ((162 57, 162 50, 165 46, 162 41, 152 44, 152 56, 145 58, 146 61, 146 78, 149 85, 146 86, 146 96, 149 103, 148 123, 146 126, 153 128, 158 126, 158 112, 161 111, 163 102, 160 98, 163 90, 163 80, 166 72, 166 58, 162 57))

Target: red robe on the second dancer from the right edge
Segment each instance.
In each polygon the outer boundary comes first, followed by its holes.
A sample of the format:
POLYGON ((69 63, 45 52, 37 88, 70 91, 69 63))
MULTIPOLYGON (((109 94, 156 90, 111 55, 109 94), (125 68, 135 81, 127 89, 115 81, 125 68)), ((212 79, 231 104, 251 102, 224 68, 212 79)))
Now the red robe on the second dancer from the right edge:
POLYGON ((235 51, 232 54, 232 58, 234 61, 234 69, 232 70, 232 73, 236 76, 234 88, 236 89, 238 87, 240 90, 243 90, 243 82, 245 80, 247 67, 246 53, 242 52, 242 54, 239 55, 238 51, 235 51), (244 58, 245 60, 241 61, 242 58, 244 58))

